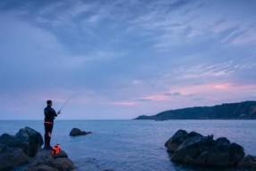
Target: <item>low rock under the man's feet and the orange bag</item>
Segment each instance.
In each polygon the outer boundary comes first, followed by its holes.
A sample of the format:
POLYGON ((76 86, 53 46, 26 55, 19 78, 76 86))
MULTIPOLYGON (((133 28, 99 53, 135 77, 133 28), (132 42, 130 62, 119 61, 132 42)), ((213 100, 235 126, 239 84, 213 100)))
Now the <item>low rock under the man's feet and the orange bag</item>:
POLYGON ((68 159, 65 151, 61 151, 59 155, 52 155, 50 150, 41 150, 37 152, 27 171, 41 170, 41 168, 45 170, 48 168, 49 170, 69 171, 75 167, 73 162, 68 159))

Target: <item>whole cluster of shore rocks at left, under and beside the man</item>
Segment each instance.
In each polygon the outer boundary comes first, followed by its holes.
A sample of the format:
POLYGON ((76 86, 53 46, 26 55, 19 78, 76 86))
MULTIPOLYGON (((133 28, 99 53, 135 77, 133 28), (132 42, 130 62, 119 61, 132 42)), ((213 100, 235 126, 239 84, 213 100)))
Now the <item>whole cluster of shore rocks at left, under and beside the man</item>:
POLYGON ((0 170, 26 166, 26 171, 70 171, 75 168, 65 151, 52 155, 43 150, 43 137, 36 130, 25 127, 15 135, 0 136, 0 170))

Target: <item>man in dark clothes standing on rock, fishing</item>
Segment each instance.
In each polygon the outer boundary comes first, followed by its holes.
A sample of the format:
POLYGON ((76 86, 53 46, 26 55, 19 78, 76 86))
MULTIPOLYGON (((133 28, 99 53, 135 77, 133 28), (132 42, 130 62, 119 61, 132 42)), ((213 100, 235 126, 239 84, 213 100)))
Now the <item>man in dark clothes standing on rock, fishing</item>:
POLYGON ((47 107, 45 108, 45 147, 46 150, 51 150, 52 147, 50 145, 51 142, 51 136, 54 128, 54 118, 58 116, 58 114, 61 113, 61 111, 58 111, 58 113, 55 112, 55 110, 52 108, 53 102, 51 100, 48 100, 47 107))

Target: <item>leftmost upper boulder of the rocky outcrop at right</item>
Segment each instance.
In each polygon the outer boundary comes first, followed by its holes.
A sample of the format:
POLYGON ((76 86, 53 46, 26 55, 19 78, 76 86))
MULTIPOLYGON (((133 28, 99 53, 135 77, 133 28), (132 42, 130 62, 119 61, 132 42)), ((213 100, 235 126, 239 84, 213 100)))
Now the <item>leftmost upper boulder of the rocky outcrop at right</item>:
POLYGON ((188 133, 185 130, 178 130, 172 137, 169 138, 167 142, 165 142, 165 146, 167 147, 167 151, 174 152, 177 150, 178 146, 186 140, 188 133))

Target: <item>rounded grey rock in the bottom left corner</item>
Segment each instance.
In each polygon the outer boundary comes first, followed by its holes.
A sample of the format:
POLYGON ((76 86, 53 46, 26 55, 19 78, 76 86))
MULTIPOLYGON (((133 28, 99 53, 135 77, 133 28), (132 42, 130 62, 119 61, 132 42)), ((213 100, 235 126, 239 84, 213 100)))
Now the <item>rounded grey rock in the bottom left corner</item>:
POLYGON ((0 144, 0 170, 21 166, 29 162, 29 158, 21 148, 8 147, 0 144))

